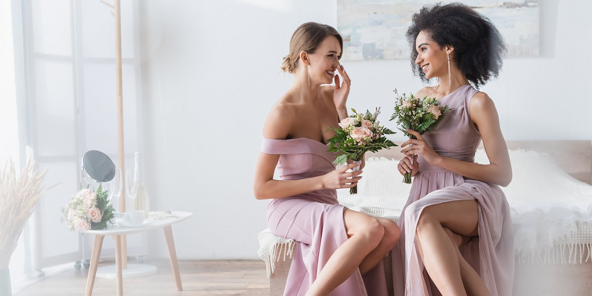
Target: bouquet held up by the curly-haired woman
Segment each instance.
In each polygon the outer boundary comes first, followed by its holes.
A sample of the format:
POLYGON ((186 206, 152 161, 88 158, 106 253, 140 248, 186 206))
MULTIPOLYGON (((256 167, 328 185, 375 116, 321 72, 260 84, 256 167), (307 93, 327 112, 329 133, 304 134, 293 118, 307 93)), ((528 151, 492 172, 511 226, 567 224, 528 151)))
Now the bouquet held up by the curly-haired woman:
MULTIPOLYGON (((398 95, 397 89, 395 94, 398 95)), ((424 96, 423 99, 416 98, 413 94, 403 94, 397 96, 395 101, 395 112, 392 113, 390 120, 397 120, 400 126, 398 129, 403 131, 409 139, 417 140, 415 136, 407 133, 406 130, 414 130, 419 134, 432 130, 438 121, 442 120, 444 113, 450 110, 448 105, 438 104, 436 98, 428 98, 424 96)), ((406 173, 403 177, 403 182, 411 184, 411 173, 406 173)))

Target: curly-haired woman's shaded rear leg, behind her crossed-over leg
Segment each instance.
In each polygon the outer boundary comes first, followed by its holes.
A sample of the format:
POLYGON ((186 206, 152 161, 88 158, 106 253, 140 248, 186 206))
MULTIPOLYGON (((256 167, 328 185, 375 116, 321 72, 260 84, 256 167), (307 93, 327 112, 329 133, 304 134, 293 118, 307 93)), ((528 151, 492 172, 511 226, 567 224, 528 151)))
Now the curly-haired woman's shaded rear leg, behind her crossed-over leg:
POLYGON ((475 269, 466 262, 465 258, 461 255, 461 251, 458 249, 461 244, 468 242, 471 237, 453 233, 452 230, 448 228, 444 228, 444 230, 446 231, 446 234, 448 234, 448 237, 450 237, 451 242, 456 246, 456 256, 458 257, 458 262, 461 267, 462 284, 464 284, 466 292, 469 295, 490 296, 491 293, 487 287, 485 287, 481 277, 477 274, 475 269))

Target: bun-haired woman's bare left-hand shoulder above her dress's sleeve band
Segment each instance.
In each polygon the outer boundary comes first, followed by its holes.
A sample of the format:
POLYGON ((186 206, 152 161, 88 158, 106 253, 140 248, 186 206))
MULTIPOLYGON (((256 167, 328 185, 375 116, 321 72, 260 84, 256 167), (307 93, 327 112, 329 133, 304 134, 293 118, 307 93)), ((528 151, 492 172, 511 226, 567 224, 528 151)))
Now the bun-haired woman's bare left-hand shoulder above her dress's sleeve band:
POLYGON ((263 124, 263 137, 287 139, 295 117, 294 104, 288 102, 284 95, 269 110, 265 124, 263 124))

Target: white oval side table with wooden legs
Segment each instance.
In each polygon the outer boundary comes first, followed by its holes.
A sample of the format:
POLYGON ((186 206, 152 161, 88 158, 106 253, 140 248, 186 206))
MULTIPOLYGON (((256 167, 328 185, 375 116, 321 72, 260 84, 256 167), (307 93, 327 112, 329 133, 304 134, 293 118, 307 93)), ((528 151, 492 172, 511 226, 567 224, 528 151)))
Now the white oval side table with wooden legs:
POLYGON ((95 284, 96 269, 101 256, 101 247, 103 239, 106 235, 113 236, 115 240, 115 278, 117 279, 117 296, 123 296, 123 269, 121 268, 121 236, 141 231, 162 228, 165 231, 166 246, 169 249, 170 267, 175 276, 175 284, 179 291, 183 290, 181 285, 181 275, 179 274, 179 263, 177 261, 177 252, 175 250, 175 242, 173 241, 173 231, 170 228, 172 224, 181 222, 190 218, 193 213, 189 212, 173 212, 179 218, 166 218, 162 220, 151 220, 149 224, 139 227, 126 227, 120 224, 108 224, 107 228, 101 230, 86 230, 83 233, 95 234, 95 242, 92 246, 91 265, 88 270, 88 278, 86 279, 86 296, 92 295, 92 287, 95 284))

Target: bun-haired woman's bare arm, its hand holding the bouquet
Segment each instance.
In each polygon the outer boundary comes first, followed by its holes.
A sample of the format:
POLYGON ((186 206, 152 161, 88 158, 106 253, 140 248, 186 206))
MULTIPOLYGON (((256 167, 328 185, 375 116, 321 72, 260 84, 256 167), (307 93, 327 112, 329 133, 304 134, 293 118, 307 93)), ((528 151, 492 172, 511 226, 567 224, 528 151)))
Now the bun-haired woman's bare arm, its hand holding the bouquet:
MULTIPOLYGON (((272 108, 263 126, 263 137, 267 139, 287 139, 294 112, 278 105, 272 108)), ((356 164, 333 170, 322 176, 300 180, 275 180, 274 170, 279 155, 259 153, 253 181, 253 192, 258 200, 284 198, 319 189, 351 188, 358 184, 362 172, 346 172, 356 164)))

